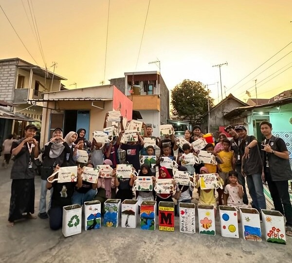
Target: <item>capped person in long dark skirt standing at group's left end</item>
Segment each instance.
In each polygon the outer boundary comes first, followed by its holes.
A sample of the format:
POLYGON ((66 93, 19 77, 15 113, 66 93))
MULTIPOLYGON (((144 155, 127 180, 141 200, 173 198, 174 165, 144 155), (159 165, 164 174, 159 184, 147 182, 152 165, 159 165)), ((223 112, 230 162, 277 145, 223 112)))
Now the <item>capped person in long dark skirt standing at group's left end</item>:
POLYGON ((11 151, 14 163, 11 169, 11 198, 9 208, 9 225, 23 218, 35 219, 35 158, 38 158, 38 143, 35 136, 37 127, 29 124, 25 127, 25 137, 12 143, 11 151))

